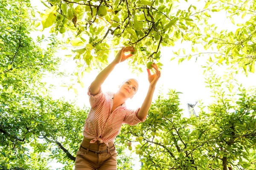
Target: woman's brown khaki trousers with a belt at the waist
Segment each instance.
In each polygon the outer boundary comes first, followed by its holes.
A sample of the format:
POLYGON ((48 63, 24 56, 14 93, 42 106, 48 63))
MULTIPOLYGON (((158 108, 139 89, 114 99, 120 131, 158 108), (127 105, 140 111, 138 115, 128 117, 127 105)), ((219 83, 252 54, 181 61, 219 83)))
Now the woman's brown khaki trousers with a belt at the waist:
POLYGON ((90 143, 91 140, 84 138, 76 152, 75 170, 116 170, 117 152, 114 142, 109 142, 107 147, 106 144, 99 143, 99 141, 90 143), (90 150, 105 151, 95 153, 90 150))

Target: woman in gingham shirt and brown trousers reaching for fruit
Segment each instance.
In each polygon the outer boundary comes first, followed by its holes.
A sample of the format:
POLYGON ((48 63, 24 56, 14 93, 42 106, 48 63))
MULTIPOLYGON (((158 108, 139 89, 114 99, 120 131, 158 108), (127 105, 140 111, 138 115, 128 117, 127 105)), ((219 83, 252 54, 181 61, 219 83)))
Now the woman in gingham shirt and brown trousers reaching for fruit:
POLYGON ((148 93, 137 110, 127 109, 125 106, 125 101, 132 99, 138 91, 136 79, 125 80, 116 93, 104 94, 101 90, 102 83, 114 67, 132 56, 125 55, 129 51, 135 51, 134 47, 123 47, 88 88, 91 109, 84 123, 84 139, 76 153, 75 170, 116 170, 117 153, 113 141, 120 133, 122 124, 133 126, 146 119, 156 83, 161 76, 155 63, 151 65, 155 70, 154 74, 147 69, 150 83, 148 93))

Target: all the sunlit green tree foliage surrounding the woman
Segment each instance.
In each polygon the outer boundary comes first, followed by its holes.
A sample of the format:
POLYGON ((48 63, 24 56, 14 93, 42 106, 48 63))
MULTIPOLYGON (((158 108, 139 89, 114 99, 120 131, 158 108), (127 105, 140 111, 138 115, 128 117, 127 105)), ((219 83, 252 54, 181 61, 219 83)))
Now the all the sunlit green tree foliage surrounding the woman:
POLYGON ((215 100, 201 102, 199 116, 186 118, 181 92, 170 90, 166 98, 159 94, 145 122, 122 127, 115 141, 118 169, 132 169, 131 155, 124 152, 127 142, 132 143, 131 153, 140 155, 142 170, 256 168, 256 88, 246 89, 235 79, 240 70, 246 75, 255 70, 254 0, 38 3, 44 12, 29 0, 0 1, 1 169, 48 170, 52 161, 73 169, 89 108, 52 99, 42 78, 63 75, 58 68, 64 58, 56 55, 63 49, 76 61, 79 71, 74 75, 83 86, 84 71, 105 67, 111 50, 123 45, 138 49, 128 63, 135 72, 142 72, 147 61, 161 68, 163 57, 179 58, 177 64, 207 57, 204 76, 215 100), (233 30, 218 30, 212 23, 211 16, 219 13, 226 14, 233 30), (38 28, 49 36, 32 37, 38 28), (172 57, 161 54, 163 47, 182 42, 191 46, 172 57), (227 73, 215 73, 222 67, 227 73))

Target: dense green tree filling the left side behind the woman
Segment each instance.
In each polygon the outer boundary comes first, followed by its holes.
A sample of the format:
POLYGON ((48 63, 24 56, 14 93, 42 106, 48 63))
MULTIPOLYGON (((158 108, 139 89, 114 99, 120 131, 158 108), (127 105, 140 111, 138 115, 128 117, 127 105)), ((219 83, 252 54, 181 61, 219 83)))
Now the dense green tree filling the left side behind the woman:
MULTIPOLYGON (((30 37, 35 27, 28 22, 34 14, 29 1, 4 0, 0 8, 0 168, 47 170, 55 159, 73 169, 88 108, 53 100, 44 87, 45 74, 62 75, 55 57, 59 43, 53 35, 36 42, 30 37)), ((120 150, 123 162, 129 157, 120 150)), ((131 161, 120 166, 131 167, 131 161)))

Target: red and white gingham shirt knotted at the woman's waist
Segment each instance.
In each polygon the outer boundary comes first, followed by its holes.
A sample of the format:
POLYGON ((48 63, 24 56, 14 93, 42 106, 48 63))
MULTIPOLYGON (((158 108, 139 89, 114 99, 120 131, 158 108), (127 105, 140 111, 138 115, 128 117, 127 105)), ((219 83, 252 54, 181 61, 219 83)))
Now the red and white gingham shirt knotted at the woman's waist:
POLYGON ((108 145, 108 142, 112 142, 120 133, 122 124, 134 126, 146 119, 146 117, 143 120, 137 118, 140 108, 127 109, 125 103, 111 113, 113 92, 103 93, 100 89, 99 94, 93 96, 90 94, 89 87, 87 94, 91 108, 84 123, 83 135, 92 139, 90 143, 98 140, 108 145))

